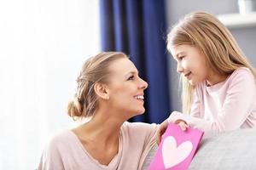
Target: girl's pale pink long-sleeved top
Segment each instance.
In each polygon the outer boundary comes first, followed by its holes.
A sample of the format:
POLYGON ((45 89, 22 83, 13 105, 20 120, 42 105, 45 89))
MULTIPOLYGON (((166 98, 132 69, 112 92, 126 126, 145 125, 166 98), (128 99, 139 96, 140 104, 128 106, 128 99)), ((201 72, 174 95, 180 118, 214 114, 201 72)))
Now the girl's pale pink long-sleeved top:
POLYGON ((168 122, 183 119, 190 127, 218 133, 256 124, 256 84, 252 72, 241 67, 224 82, 195 88, 190 116, 172 112, 168 122))

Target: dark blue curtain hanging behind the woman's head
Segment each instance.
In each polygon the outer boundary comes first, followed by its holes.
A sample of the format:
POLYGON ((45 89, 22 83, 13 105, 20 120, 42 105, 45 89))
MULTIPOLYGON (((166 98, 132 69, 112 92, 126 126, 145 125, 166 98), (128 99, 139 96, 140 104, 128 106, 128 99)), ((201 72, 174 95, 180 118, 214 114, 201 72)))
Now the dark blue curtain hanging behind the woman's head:
POLYGON ((128 54, 148 82, 146 113, 131 122, 164 121, 170 114, 164 0, 100 0, 102 51, 128 54))

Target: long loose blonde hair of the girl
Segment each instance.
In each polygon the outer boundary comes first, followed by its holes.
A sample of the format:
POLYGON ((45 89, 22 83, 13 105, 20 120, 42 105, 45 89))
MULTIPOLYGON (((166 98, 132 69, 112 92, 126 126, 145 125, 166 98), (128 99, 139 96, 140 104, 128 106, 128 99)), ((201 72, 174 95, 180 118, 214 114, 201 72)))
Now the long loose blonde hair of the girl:
MULTIPOLYGON (((256 78, 256 71, 247 61, 230 31, 212 14, 193 12, 180 20, 167 36, 167 48, 191 44, 206 56, 207 65, 219 75, 230 75, 239 67, 247 67, 256 78)), ((183 113, 190 113, 195 87, 182 79, 183 113)))

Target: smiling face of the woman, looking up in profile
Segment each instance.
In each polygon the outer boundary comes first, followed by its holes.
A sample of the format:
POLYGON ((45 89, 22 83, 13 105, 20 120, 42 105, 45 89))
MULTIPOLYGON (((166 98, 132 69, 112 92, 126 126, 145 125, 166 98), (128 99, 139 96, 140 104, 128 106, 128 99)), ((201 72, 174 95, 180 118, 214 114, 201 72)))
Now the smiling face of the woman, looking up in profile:
POLYGON ((130 59, 114 60, 109 65, 109 108, 124 113, 125 118, 142 114, 144 109, 144 90, 148 83, 138 76, 138 71, 130 59))

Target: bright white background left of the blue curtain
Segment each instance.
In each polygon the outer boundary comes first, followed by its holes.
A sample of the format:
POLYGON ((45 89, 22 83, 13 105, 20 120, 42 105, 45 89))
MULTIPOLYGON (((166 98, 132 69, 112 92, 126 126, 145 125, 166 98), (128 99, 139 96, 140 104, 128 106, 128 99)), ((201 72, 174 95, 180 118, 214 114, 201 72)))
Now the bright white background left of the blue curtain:
POLYGON ((99 52, 97 0, 0 2, 0 169, 35 169, 66 114, 75 79, 99 52))

